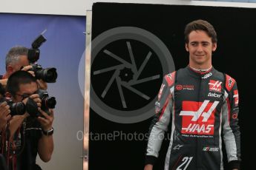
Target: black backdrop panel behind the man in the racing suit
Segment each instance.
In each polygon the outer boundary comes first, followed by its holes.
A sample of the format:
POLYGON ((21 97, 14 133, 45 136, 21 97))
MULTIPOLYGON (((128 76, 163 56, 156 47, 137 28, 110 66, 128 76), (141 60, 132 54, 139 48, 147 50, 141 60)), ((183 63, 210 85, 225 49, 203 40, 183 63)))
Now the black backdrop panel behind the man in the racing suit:
MULTIPOLYGON (((139 27, 156 35, 164 42, 174 58, 176 69, 186 67, 188 53, 184 48, 183 30, 189 21, 204 19, 214 25, 218 35, 217 51, 213 55, 213 65, 221 72, 226 72, 237 80, 240 89, 240 129, 242 134, 242 168, 252 167, 252 148, 254 142, 255 120, 254 85, 256 67, 256 9, 237 7, 196 7, 156 4, 112 4, 93 5, 92 37, 115 27, 139 27), (250 152, 252 154, 248 154, 250 152)), ((116 47, 116 53, 123 49, 116 47)), ((114 62, 114 61, 113 61, 114 62)), ((105 62, 102 62, 104 65, 105 62)), ((151 66, 159 69, 160 65, 151 66)), ((93 73, 93 66, 92 66, 93 73)), ((167 72, 163 72, 166 74, 167 72)), ((112 73, 113 74, 113 73, 112 73)), ((93 80, 92 74, 92 80, 93 80)), ((106 78, 111 78, 106 75, 106 78)), ((162 76, 161 76, 162 78, 162 76)), ((102 82, 98 82, 101 84, 102 82)), ((95 82, 94 82, 94 87, 95 82)), ((100 86, 100 85, 99 85, 100 86)), ((114 87, 113 87, 114 88, 114 87)), ((148 85, 154 91, 160 89, 160 82, 148 85)), ((115 100, 115 99, 113 99, 115 100)), ((129 98, 134 100, 134 98, 129 98)), ((118 103, 116 103, 118 105, 118 103)), ((90 132, 100 135, 105 133, 144 134, 148 132, 151 118, 139 123, 114 123, 106 120, 91 109, 90 132)), ((90 169, 143 169, 147 141, 145 139, 124 139, 122 137, 90 141, 90 169)), ((168 140, 164 140, 160 159, 155 169, 163 169, 168 140)))

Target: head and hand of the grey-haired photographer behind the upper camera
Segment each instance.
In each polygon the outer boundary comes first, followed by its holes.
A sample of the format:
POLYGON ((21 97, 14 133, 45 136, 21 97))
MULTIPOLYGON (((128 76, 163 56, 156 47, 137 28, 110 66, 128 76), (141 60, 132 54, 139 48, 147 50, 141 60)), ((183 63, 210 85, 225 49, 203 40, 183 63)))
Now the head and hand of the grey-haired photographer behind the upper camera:
MULTIPOLYGON (((0 83, 6 86, 7 78, 20 69, 30 72, 31 75, 35 76, 33 71, 30 71, 32 67, 27 59, 28 49, 26 47, 17 46, 12 47, 6 55, 5 69, 6 73, 2 76, 0 83)), ((39 89, 47 89, 47 83, 42 80, 36 80, 39 84, 39 89)))

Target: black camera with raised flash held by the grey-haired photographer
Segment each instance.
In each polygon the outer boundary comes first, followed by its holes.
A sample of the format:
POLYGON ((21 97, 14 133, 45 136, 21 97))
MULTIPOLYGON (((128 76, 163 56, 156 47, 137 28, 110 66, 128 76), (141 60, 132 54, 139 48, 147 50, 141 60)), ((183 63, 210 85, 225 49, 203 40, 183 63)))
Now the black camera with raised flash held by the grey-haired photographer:
POLYGON ((51 67, 43 69, 41 65, 36 64, 36 61, 39 60, 40 50, 39 47, 46 41, 46 38, 41 34, 39 35, 31 44, 32 48, 27 52, 27 59, 32 66, 30 71, 35 72, 37 79, 42 79, 47 83, 55 83, 58 77, 56 68, 51 67))

